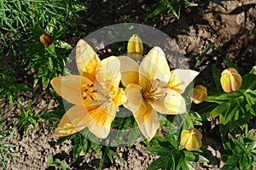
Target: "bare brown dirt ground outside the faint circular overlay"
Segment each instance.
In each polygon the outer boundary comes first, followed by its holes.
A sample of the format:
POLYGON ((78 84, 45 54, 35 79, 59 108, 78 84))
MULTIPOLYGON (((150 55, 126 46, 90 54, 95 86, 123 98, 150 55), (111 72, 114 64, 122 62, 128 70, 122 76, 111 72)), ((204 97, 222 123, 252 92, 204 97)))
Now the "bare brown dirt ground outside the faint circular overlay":
MULTIPOLYGON (((149 0, 88 1, 88 12, 81 16, 79 21, 87 25, 84 37, 103 26, 129 20, 154 26, 177 42, 188 59, 191 69, 201 71, 199 82, 202 80, 212 82, 211 65, 217 65, 219 70, 223 70, 226 64, 225 58, 235 62, 241 68, 241 74, 250 71, 256 61, 256 0, 198 0, 195 3, 198 3, 198 7, 183 9, 179 20, 168 13, 161 14, 160 18, 153 20, 147 18, 147 14, 156 3, 149 0), (196 59, 210 43, 213 43, 213 48, 203 57, 201 65, 194 68, 196 59)), ((78 40, 79 37, 73 38, 72 41, 78 40)), ((57 106, 50 94, 40 88, 32 94, 20 94, 23 105, 27 105, 29 99, 32 101, 33 111, 39 114, 53 111, 57 106)), ((3 120, 5 127, 14 127, 17 120, 12 116, 20 114, 20 107, 18 105, 3 107, 2 104, 1 108, 4 109, 0 115, 7 117, 3 120)), ((251 124, 255 128, 255 119, 251 124)), ((9 169, 52 169, 47 167, 47 158, 50 155, 67 161, 71 169, 97 169, 100 157, 94 150, 73 161, 72 141, 67 140, 63 144, 56 145, 55 130, 49 129, 48 125, 48 122, 39 122, 38 131, 29 127, 23 136, 14 131, 9 142, 16 144, 16 147, 10 151, 17 151, 17 156, 14 158, 14 163, 8 160, 9 169)), ((223 166, 223 162, 220 161, 223 150, 216 128, 215 122, 207 123, 201 128, 204 133, 203 143, 208 145, 208 149, 202 154, 210 162, 193 164, 195 169, 219 169, 223 166)), ((135 144, 129 150, 126 147, 119 147, 116 150, 127 163, 114 160, 113 164, 106 162, 103 169, 145 169, 155 159, 155 156, 145 150, 143 143, 135 144)))

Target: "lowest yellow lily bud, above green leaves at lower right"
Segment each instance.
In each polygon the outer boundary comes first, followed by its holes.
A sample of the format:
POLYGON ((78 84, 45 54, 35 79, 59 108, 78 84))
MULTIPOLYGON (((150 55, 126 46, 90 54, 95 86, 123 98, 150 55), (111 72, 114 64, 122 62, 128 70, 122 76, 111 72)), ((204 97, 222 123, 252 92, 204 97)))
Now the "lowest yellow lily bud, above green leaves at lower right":
POLYGON ((198 150, 201 147, 201 132, 196 128, 183 129, 180 144, 187 150, 198 150))

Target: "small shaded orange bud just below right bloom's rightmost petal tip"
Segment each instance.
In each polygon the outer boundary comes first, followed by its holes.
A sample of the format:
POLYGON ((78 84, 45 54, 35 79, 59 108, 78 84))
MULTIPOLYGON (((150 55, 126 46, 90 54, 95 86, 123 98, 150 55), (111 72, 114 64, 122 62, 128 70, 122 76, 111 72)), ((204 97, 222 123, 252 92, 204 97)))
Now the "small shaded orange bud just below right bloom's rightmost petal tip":
POLYGON ((207 99, 207 88, 202 85, 197 85, 189 90, 189 98, 195 103, 200 104, 207 99))

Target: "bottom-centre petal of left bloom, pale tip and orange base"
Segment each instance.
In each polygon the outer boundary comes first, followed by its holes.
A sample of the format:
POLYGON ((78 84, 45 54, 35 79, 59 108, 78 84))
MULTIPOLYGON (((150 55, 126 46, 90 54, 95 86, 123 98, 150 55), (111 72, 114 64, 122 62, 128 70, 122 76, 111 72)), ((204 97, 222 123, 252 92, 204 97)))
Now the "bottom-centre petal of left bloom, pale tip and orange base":
POLYGON ((99 139, 106 139, 110 133, 111 123, 116 114, 113 101, 106 101, 86 116, 86 126, 99 139))

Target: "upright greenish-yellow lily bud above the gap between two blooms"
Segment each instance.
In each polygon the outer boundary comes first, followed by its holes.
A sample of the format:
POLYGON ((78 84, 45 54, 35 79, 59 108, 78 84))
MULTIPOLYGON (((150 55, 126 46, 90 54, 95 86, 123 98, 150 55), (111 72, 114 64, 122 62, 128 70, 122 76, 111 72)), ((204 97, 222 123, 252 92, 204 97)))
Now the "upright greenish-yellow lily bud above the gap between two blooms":
POLYGON ((143 55, 143 41, 140 37, 134 34, 128 41, 128 55, 135 60, 138 60, 143 55))

